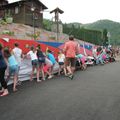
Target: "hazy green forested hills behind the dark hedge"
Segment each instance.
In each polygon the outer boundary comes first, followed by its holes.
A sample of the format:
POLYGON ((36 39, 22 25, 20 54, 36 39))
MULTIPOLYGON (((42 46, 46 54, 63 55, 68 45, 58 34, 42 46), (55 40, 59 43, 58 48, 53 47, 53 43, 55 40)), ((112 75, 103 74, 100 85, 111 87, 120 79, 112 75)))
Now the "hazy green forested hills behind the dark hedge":
MULTIPOLYGON (((51 29, 52 21, 44 19, 44 28, 47 30, 51 29)), ((65 23, 64 26, 67 25, 68 28, 73 30, 73 26, 75 28, 84 28, 88 30, 95 30, 95 31, 101 31, 103 32, 104 29, 107 29, 108 32, 110 32, 110 41, 112 44, 120 44, 120 23, 114 22, 111 20, 98 20, 94 23, 89 24, 82 24, 78 22, 74 23, 65 23)), ((63 29, 64 31, 64 29, 63 29)), ((76 31, 72 31, 75 32, 76 31)), ((66 32, 67 33, 67 32, 66 32)), ((68 33, 71 33, 70 31, 68 33)))

